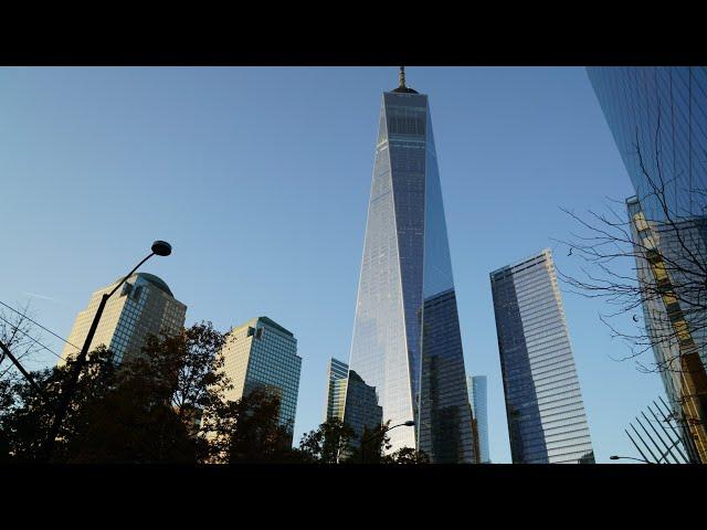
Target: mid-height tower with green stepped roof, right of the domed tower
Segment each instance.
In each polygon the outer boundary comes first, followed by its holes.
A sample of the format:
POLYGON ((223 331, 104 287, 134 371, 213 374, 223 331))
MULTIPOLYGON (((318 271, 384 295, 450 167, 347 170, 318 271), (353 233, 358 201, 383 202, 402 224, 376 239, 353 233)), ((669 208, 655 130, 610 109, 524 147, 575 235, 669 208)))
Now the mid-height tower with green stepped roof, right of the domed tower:
POLYGON ((233 384, 226 400, 265 390, 279 398, 281 425, 293 428, 302 371, 295 336, 267 317, 253 318, 228 333, 222 352, 233 384))

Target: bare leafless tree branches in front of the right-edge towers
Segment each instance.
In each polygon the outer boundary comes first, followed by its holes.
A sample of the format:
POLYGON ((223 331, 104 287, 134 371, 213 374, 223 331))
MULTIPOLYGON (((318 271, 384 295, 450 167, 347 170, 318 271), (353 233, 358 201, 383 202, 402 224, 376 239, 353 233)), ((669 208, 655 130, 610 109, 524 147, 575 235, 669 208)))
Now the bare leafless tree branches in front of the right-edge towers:
POLYGON ((600 319, 627 346, 623 360, 662 374, 676 420, 707 462, 707 189, 666 174, 661 138, 658 119, 646 157, 636 130, 644 184, 625 201, 627 214, 613 206, 585 218, 564 210, 583 233, 561 243, 581 266, 579 275, 558 273, 574 293, 613 308, 600 319), (641 358, 648 350, 653 362, 641 358))

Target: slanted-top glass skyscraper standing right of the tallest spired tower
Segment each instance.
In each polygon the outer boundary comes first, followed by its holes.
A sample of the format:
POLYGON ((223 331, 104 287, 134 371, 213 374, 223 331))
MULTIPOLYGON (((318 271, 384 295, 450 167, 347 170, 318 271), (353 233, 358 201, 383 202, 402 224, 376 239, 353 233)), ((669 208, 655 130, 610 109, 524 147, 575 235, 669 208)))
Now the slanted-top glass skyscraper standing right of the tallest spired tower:
POLYGON ((490 273, 514 464, 593 463, 549 250, 490 273))

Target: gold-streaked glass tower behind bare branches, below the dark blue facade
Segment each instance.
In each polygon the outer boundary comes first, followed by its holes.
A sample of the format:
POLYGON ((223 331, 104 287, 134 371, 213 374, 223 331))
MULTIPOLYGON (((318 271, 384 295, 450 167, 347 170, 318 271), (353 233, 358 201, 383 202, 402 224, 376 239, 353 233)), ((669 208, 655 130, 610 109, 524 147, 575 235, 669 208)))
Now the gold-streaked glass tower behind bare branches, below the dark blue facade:
POLYGON ((707 256, 707 216, 678 223, 647 220, 626 200, 643 316, 673 417, 693 462, 707 463, 707 329, 704 289, 692 269, 707 256), (661 252, 656 252, 659 246, 661 252))

